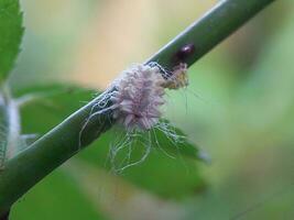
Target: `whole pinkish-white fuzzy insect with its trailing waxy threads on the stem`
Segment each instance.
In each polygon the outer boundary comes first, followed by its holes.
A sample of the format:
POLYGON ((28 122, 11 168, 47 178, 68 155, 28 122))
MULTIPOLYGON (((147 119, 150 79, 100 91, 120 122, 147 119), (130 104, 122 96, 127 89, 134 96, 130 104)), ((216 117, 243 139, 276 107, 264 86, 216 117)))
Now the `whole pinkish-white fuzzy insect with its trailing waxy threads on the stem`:
POLYGON ((110 148, 110 162, 113 170, 122 172, 124 168, 142 163, 151 152, 151 135, 155 136, 155 144, 160 146, 155 130, 168 136, 175 145, 182 140, 168 123, 161 120, 161 108, 165 105, 165 89, 178 89, 187 86, 187 65, 181 64, 173 68, 171 73, 166 72, 157 63, 138 64, 124 70, 105 92, 105 97, 92 108, 89 119, 83 125, 81 134, 95 116, 102 114, 108 110, 112 112, 112 119, 116 123, 123 127, 126 135, 110 148), (110 102, 109 102, 110 101, 110 102), (109 106, 108 106, 109 105, 109 106), (108 107, 107 107, 108 106, 108 107), (143 135, 148 134, 146 139, 143 135), (130 162, 132 145, 137 139, 140 139, 144 147, 142 157, 137 162, 130 162), (128 147, 126 164, 116 165, 117 155, 128 147))

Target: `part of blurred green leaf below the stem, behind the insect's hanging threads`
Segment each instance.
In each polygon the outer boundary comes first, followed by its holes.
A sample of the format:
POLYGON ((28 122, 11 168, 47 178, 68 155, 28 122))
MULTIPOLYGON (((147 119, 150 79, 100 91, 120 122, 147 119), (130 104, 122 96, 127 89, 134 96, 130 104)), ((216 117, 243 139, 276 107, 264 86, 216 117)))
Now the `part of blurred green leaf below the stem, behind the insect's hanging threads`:
MULTIPOLYGON (((176 144, 159 130, 155 132, 160 147, 154 142, 154 139, 151 138, 152 148, 148 157, 142 163, 123 169, 120 175, 138 187, 163 198, 182 199, 202 190, 205 187, 205 182, 195 162, 195 158, 198 157, 196 155, 197 148, 187 141, 176 144), (194 150, 192 151, 189 147, 194 150), (193 154, 189 154, 189 151, 193 154)), ((127 146, 117 156, 116 165, 109 162, 109 147, 111 147, 111 143, 118 144, 118 142, 113 141, 118 135, 116 130, 108 131, 92 146, 81 152, 79 157, 96 166, 107 169, 113 168, 126 158, 130 147, 127 146)), ((145 147, 146 145, 134 142, 131 160, 122 167, 139 162, 144 156, 145 147)))

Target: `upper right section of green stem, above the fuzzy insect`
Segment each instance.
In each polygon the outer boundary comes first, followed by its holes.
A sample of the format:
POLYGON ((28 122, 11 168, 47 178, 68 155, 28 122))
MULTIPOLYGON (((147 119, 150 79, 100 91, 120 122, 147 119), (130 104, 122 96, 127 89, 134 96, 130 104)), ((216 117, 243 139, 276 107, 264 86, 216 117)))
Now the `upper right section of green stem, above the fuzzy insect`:
POLYGON ((171 69, 175 65, 174 56, 178 50, 186 44, 193 44, 195 46, 194 53, 184 61, 190 66, 273 1, 222 0, 148 62, 155 61, 171 69))

